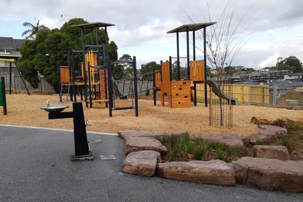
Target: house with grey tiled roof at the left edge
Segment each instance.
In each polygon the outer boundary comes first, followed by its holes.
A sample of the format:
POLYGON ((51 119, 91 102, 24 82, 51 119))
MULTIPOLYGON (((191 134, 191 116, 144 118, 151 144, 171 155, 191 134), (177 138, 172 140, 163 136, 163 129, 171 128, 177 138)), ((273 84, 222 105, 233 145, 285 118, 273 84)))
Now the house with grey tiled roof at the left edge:
MULTIPOLYGON (((14 39, 12 37, 0 37, 0 57, 21 57, 20 47, 25 42, 25 39, 14 39)), ((10 62, 0 61, 0 73, 9 72, 10 62)), ((12 63, 12 71, 17 73, 16 66, 12 63)))

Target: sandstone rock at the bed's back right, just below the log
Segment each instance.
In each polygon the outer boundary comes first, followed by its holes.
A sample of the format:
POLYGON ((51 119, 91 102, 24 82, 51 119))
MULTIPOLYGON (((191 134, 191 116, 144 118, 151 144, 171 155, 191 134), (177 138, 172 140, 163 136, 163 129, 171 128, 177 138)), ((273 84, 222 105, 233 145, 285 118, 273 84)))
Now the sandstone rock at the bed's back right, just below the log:
POLYGON ((276 138, 287 136, 287 130, 285 128, 272 125, 259 125, 259 128, 262 128, 263 130, 248 136, 252 143, 256 143, 258 140, 268 142, 276 138))

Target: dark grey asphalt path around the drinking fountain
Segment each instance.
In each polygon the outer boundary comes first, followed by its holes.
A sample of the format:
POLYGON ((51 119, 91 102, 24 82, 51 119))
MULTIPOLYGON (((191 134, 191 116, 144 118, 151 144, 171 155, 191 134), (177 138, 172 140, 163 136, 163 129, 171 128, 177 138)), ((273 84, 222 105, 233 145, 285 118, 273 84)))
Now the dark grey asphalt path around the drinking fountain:
POLYGON ((0 201, 303 201, 303 194, 121 172, 118 136, 88 133, 93 161, 70 161, 73 132, 0 126, 0 201), (101 160, 100 155, 116 160, 101 160))

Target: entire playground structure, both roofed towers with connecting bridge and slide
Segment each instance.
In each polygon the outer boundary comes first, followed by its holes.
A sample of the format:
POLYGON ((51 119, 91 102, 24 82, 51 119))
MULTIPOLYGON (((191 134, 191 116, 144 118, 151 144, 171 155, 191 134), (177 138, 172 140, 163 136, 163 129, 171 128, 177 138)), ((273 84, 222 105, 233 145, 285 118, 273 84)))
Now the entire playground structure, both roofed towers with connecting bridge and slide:
MULTIPOLYGON (((197 104, 196 84, 205 83, 212 86, 215 94, 228 100, 229 96, 225 95, 219 89, 217 83, 207 77, 206 63, 206 27, 216 24, 216 22, 187 24, 177 27, 167 33, 177 34, 177 57, 169 57, 169 61, 161 61, 161 71, 153 71, 146 74, 138 74, 136 69, 136 58, 133 61, 110 61, 108 55, 108 39, 107 27, 114 26, 109 23, 87 23, 80 25, 72 25, 72 27, 81 28, 82 50, 76 51, 71 49, 67 54, 68 66, 59 67, 60 79, 60 102, 62 102, 63 90, 66 89, 67 99, 77 102, 76 94, 79 91, 81 100, 84 101, 86 107, 92 108, 96 103, 105 104, 109 108, 109 115, 112 116, 112 110, 135 109, 135 115, 138 116, 138 93, 153 89, 154 105, 156 105, 157 91, 161 91, 161 106, 164 106, 164 97, 168 97, 168 105, 170 108, 189 108, 193 101, 194 106, 197 104), (84 43, 83 29, 90 29, 91 42, 84 43), (105 44, 98 44, 98 29, 105 29, 105 44), (95 44, 93 43, 93 29, 95 29, 95 44), (204 60, 196 60, 195 56, 195 31, 204 29, 204 60), (192 31, 193 36, 193 60, 189 58, 189 32, 192 31), (186 32, 187 56, 180 57, 179 54, 179 32, 186 32), (172 79, 172 59, 177 59, 177 80, 172 79), (180 79, 180 59, 186 59, 187 79, 180 79), (103 65, 101 65, 103 61, 103 65), (112 65, 132 63, 133 76, 125 79, 114 80, 112 77, 112 65), (78 69, 78 70, 76 70, 78 69), (77 74, 77 75, 76 75, 77 74), (153 78, 150 78, 153 77, 153 78), (137 81, 147 79, 153 81, 153 87, 146 89, 138 89, 137 81), (119 91, 119 84, 123 85, 122 92, 119 91), (129 89, 125 90, 125 83, 129 84, 129 89), (115 100, 123 97, 131 97, 132 105, 127 107, 116 108, 115 100)), ((142 82, 141 82, 142 83, 142 82)), ((148 86, 148 85, 147 85, 148 86)), ((205 85, 205 88, 207 86, 205 85)), ((236 100, 231 97, 231 104, 237 105, 236 100)), ((208 94, 205 90, 205 106, 208 107, 208 94)))

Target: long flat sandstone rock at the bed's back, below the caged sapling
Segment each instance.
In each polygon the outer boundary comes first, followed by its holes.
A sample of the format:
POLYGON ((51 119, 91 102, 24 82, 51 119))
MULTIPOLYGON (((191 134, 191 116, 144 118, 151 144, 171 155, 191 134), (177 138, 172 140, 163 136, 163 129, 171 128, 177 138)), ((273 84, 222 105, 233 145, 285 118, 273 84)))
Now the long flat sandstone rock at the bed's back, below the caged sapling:
POLYGON ((224 142, 225 145, 232 147, 244 146, 242 138, 246 138, 243 135, 229 133, 220 133, 218 135, 196 133, 193 136, 194 138, 203 138, 205 140, 213 142, 224 142))

